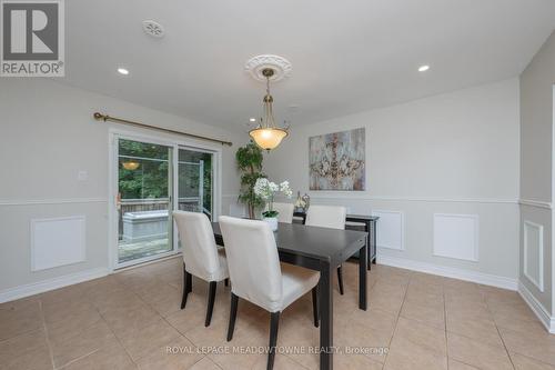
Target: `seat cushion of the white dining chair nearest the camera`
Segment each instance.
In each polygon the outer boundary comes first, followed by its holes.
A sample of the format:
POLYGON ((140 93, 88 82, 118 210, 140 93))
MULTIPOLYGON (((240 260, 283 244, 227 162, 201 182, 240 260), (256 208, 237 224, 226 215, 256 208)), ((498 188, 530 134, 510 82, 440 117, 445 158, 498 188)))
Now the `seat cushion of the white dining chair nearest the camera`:
POLYGON ((287 306, 311 291, 320 280, 320 272, 290 263, 281 263, 281 273, 283 279, 283 300, 279 311, 283 311, 287 306))

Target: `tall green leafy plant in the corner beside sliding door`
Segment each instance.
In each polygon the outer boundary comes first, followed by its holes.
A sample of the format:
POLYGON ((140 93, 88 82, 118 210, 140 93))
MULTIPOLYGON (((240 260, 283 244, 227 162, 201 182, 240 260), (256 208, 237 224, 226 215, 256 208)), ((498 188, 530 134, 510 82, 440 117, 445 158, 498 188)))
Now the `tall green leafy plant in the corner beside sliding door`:
POLYGON ((241 174, 241 192, 239 201, 249 208, 249 218, 254 218, 254 211, 264 206, 264 200, 254 193, 254 184, 260 178, 265 178, 262 172, 262 161, 264 157, 262 149, 254 142, 238 149, 235 161, 241 174))

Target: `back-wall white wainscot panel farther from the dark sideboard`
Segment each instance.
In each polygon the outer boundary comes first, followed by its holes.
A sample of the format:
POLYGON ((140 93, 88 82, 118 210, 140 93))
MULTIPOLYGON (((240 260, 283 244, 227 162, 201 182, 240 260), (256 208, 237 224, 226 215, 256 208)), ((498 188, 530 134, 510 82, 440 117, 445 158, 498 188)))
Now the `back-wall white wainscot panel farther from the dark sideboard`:
POLYGON ((478 260, 477 214, 434 214, 434 256, 478 260))

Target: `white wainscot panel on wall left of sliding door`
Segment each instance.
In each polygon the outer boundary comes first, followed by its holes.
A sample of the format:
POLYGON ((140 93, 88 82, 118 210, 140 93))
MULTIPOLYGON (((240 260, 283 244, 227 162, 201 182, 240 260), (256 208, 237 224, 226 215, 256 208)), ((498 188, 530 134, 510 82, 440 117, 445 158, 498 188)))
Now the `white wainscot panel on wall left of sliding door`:
POLYGON ((85 218, 73 216, 31 220, 31 270, 85 260, 85 218))

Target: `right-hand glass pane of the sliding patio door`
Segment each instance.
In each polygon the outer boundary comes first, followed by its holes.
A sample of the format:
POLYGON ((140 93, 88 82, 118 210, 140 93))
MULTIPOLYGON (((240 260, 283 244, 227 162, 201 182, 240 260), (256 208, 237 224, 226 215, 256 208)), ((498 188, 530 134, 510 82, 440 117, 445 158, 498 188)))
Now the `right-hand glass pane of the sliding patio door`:
POLYGON ((213 214, 213 154, 193 149, 179 150, 179 209, 213 214))

